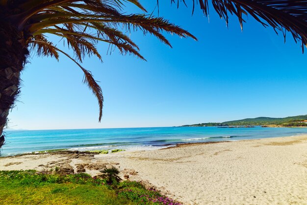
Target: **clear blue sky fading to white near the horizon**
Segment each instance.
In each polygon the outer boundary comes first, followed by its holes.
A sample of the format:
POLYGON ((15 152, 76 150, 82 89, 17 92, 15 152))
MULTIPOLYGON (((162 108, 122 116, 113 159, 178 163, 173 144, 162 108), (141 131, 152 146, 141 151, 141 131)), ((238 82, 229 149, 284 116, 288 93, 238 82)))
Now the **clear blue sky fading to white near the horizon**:
MULTIPOLYGON (((155 1, 141 2, 153 11, 155 1)), ((118 50, 107 55, 106 44, 98 45, 103 63, 84 60, 102 87, 101 123, 97 100, 82 84, 77 65, 65 56, 57 62, 32 55, 9 127, 167 127, 307 114, 307 54, 290 34, 284 44, 281 34, 250 16, 241 32, 235 18, 227 28, 212 8, 210 22, 200 9, 191 16, 191 9, 160 1, 159 14, 198 42, 167 35, 171 49, 153 36, 131 32, 147 62, 118 50)))

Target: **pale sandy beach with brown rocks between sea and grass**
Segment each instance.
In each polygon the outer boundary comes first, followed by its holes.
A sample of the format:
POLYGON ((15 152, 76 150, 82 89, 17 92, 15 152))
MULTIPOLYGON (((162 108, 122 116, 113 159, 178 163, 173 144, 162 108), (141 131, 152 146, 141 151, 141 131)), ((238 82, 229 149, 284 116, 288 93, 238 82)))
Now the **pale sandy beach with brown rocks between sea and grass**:
POLYGON ((307 135, 113 154, 50 153, 0 157, 0 170, 86 171, 111 164, 186 205, 307 204, 307 135))

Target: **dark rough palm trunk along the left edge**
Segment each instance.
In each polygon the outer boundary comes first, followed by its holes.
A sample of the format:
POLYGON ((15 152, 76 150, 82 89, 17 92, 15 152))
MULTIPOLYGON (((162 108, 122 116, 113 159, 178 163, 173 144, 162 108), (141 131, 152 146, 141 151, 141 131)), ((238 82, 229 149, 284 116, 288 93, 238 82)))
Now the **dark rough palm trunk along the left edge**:
POLYGON ((23 32, 0 20, 0 148, 9 110, 19 93, 20 72, 28 54, 23 32))

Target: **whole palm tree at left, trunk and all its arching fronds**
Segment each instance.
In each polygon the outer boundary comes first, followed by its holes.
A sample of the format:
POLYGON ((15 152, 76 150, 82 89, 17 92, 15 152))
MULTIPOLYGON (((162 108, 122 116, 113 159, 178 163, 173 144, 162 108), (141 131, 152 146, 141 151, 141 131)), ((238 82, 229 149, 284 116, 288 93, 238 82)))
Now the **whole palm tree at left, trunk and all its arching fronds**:
MULTIPOLYGON (((19 93, 20 72, 31 50, 57 60, 59 53, 62 53, 80 67, 84 73, 84 83, 98 99, 100 121, 103 105, 101 87, 80 64, 85 55, 95 55, 102 60, 95 46, 98 42, 109 43, 123 54, 133 54, 144 60, 138 46, 130 40, 126 31, 139 29, 144 34, 156 36, 169 46, 171 44, 162 31, 196 39, 163 18, 124 14, 124 1, 146 12, 138 0, 0 0, 0 136, 9 109, 19 93), (65 39, 75 57, 49 41, 50 35, 65 39)), ((3 142, 2 135, 0 147, 3 142)))

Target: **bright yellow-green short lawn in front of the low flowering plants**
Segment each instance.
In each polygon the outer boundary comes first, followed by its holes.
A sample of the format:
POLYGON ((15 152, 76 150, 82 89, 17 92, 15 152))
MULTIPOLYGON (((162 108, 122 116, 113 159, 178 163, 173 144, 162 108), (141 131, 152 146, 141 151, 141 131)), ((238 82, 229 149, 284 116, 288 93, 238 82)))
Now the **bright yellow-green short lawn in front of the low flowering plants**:
POLYGON ((0 203, 10 204, 45 204, 45 205, 122 205, 134 203, 119 200, 114 191, 103 186, 89 184, 42 184, 40 186, 1 186, 0 203))

